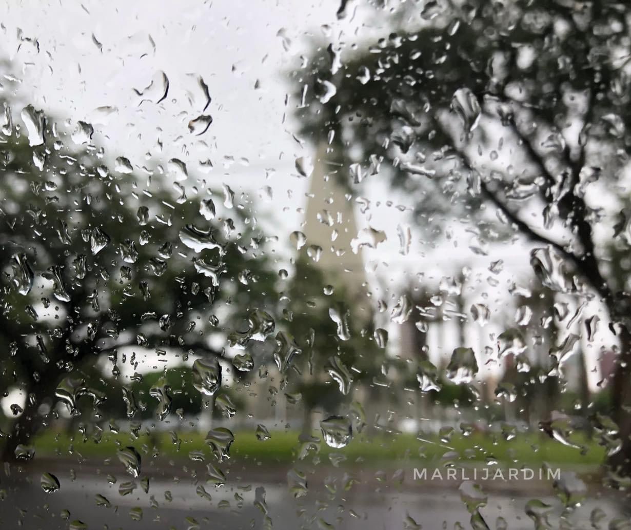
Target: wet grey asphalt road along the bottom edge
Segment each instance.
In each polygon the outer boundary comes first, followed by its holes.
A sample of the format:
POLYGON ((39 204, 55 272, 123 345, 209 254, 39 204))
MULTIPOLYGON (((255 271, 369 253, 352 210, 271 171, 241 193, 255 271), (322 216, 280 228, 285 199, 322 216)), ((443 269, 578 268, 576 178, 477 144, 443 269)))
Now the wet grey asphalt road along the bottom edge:
MULTIPOLYGON (((40 486, 41 471, 2 476, 0 488, 0 529, 57 530, 72 527, 74 521, 85 523, 89 529, 251 529, 265 528, 271 522, 274 529, 314 528, 327 530, 390 530, 414 529, 415 522, 423 529, 452 529, 459 522, 470 528, 468 514, 457 489, 425 488, 410 491, 405 486, 390 488, 353 487, 346 491, 341 481, 334 481, 330 490, 322 481, 309 485, 305 497, 295 499, 286 483, 277 479, 265 481, 265 473, 255 475, 251 482, 242 477, 235 483, 215 488, 191 476, 182 478, 154 477, 148 493, 138 487, 129 495, 120 495, 119 486, 131 477, 117 475, 117 483, 107 481, 107 473, 80 471, 74 480, 69 469, 56 470, 61 488, 45 493, 40 486), (204 485, 210 499, 196 491, 204 485), (264 488, 265 505, 261 500, 264 488), (258 492, 257 492, 258 489, 258 492), (332 491, 336 490, 336 491, 332 491), (102 495, 110 507, 98 506, 96 495, 102 495), (141 509, 142 518, 138 518, 141 509), (62 511, 70 512, 68 518, 62 511), (264 513, 266 512, 266 513, 264 513), (269 519, 266 521, 266 517, 269 519), (408 518, 408 517, 411 517, 408 518)), ((274 474, 269 473, 272 477, 274 474)), ((532 494, 493 492, 480 511, 490 529, 497 527, 503 517, 510 530, 533 529, 533 521, 524 512, 532 494)), ((555 497, 538 497, 553 506, 549 520, 551 527, 559 527, 562 513, 560 501, 555 497)), ((575 528, 592 528, 590 517, 594 509, 601 509, 607 528, 610 520, 622 515, 623 504, 614 497, 589 495, 584 504, 568 515, 575 528)))

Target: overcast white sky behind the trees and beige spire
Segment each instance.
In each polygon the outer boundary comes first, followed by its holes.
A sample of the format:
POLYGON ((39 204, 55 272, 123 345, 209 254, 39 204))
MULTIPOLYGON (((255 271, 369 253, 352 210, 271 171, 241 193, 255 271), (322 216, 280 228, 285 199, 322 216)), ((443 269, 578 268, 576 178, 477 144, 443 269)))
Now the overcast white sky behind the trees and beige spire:
MULTIPOLYGON (((186 162, 190 186, 198 177, 237 192, 271 186, 273 201, 261 199, 256 211, 284 247, 289 234, 300 229, 306 200, 307 179, 297 176, 295 159, 312 153, 292 138, 290 114, 297 102, 286 105, 282 72, 299 64, 310 34, 350 42, 375 31, 357 31, 364 19, 353 15, 352 3, 346 20, 338 21, 338 6, 338 0, 11 0, 0 7, 0 55, 9 58, 21 79, 21 100, 69 119, 71 128, 78 120, 92 123, 95 139, 112 160, 126 156, 141 167, 150 156, 166 168, 175 157, 186 162), (39 50, 25 38, 37 40, 39 50), (134 88, 149 85, 160 71, 169 79, 167 98, 139 104, 134 88), (196 76, 203 77, 212 98, 206 114, 213 124, 201 136, 192 136, 187 127, 205 104, 196 76), (95 112, 105 106, 115 110, 95 112), (199 163, 208 159, 215 168, 201 174, 199 163)), ((14 119, 20 110, 13 110, 14 119)), ((488 264, 502 258, 511 270, 500 278, 505 292, 515 270, 529 269, 524 247, 509 255, 502 248, 477 256, 457 227, 456 237, 439 252, 415 238, 410 256, 403 257, 396 227, 409 221, 395 206, 411 199, 395 197, 378 182, 368 193, 372 207, 358 224, 370 222, 387 233, 379 252, 366 256, 369 268, 387 283, 398 283, 402 269, 440 278, 465 263, 482 271, 485 283, 488 264)), ((502 305, 493 309, 504 310, 502 305)))

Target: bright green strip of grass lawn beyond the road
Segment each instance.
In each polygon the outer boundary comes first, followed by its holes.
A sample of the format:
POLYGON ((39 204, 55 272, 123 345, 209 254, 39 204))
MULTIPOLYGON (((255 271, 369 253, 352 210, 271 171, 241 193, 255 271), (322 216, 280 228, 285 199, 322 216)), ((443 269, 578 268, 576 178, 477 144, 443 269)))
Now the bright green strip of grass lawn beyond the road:
MULTIPOLYGON (((206 433, 185 432, 179 434, 179 437, 180 444, 174 444, 168 433, 156 433, 152 439, 146 435, 134 439, 129 433, 105 433, 97 444, 90 438, 84 441, 76 436, 73 440, 66 433, 46 432, 35 439, 35 452, 38 456, 54 456, 69 455, 74 451, 83 457, 104 459, 115 457, 119 445, 133 445, 141 454, 154 454, 155 447, 160 456, 172 459, 189 459, 194 451, 210 456, 211 451, 204 442, 206 433)), ((439 464, 442 459, 454 459, 460 465, 495 460, 531 465, 548 462, 565 466, 594 466, 604 460, 604 449, 595 441, 575 439, 575 443, 586 447, 582 454, 579 449, 567 447, 538 433, 517 435, 510 441, 482 434, 469 437, 454 435, 447 444, 440 442, 434 435, 425 440, 418 440, 410 434, 362 434, 343 449, 331 449, 321 442, 318 455, 323 460, 329 460, 330 454, 339 454, 346 458, 346 464, 369 466, 404 461, 439 464), (453 456, 450 457, 449 453, 453 456)), ((292 462, 297 459, 300 445, 295 431, 271 432, 271 439, 264 441, 257 440, 254 432, 241 431, 235 433, 230 456, 256 464, 292 462)), ((307 459, 311 459, 314 453, 310 452, 307 459)))

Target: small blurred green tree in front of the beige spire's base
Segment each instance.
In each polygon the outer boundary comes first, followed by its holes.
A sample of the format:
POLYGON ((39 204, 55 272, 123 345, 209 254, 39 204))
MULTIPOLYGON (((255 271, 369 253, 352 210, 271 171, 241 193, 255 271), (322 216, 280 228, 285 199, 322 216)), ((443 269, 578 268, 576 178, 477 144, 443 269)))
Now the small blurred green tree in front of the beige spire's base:
POLYGON ((372 312, 362 310, 362 293, 350 292, 343 281, 333 287, 331 281, 300 255, 286 290, 285 326, 302 351, 295 360, 300 377, 288 379, 287 389, 300 392, 305 434, 310 433, 314 409, 339 414, 340 405, 353 397, 353 387, 369 392, 384 360, 372 334, 372 312))

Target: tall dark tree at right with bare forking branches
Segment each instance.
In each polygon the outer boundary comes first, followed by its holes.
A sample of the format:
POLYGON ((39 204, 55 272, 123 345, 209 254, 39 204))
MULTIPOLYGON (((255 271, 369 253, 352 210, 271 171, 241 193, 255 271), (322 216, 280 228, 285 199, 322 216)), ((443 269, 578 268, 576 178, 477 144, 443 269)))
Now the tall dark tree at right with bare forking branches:
POLYGON ((631 8, 375 5, 387 37, 348 54, 315 43, 293 73, 302 136, 329 142, 347 186, 378 171, 415 197, 428 233, 449 216, 487 243, 518 233, 540 245, 531 263, 546 288, 601 300, 620 343, 611 464, 631 472, 631 298, 609 263, 612 239, 631 248, 631 8))

